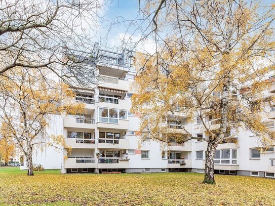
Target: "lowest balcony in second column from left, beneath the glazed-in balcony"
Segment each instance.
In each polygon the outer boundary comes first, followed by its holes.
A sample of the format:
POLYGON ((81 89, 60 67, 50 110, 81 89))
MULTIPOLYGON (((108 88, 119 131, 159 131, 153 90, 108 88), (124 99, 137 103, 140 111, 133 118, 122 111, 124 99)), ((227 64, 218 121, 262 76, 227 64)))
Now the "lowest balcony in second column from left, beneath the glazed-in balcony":
POLYGON ((98 158, 98 168, 99 169, 111 169, 111 168, 129 168, 128 158, 119 157, 100 157, 98 158))

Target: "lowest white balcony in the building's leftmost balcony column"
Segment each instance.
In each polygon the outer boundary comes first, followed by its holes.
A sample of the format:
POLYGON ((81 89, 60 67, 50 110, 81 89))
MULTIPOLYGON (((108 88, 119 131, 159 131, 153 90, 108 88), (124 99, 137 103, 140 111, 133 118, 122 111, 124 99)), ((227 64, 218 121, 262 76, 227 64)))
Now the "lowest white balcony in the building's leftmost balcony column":
POLYGON ((68 157, 64 161, 64 168, 96 168, 94 157, 68 157))

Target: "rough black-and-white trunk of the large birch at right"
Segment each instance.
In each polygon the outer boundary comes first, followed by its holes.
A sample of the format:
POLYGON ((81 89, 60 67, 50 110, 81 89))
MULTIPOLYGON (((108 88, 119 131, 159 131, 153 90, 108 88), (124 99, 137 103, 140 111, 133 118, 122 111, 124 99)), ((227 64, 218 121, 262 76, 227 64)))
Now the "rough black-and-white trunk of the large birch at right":
POLYGON ((214 142, 208 142, 206 157, 205 157, 205 176, 203 183, 207 184, 215 184, 215 176, 214 176, 214 156, 216 145, 214 142))

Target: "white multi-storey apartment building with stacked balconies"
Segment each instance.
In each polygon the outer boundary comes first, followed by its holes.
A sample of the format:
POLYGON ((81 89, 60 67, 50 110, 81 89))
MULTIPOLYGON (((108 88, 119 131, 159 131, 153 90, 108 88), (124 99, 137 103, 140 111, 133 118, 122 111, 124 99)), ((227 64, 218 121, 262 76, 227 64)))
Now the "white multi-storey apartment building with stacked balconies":
MULTIPOLYGON (((98 52, 101 57, 96 63, 98 84, 78 88, 75 97, 75 102, 85 104, 87 113, 56 115, 50 123, 49 134, 62 134, 72 151, 47 148, 33 155, 34 163, 41 163, 46 169, 61 169, 61 173, 204 173, 207 148, 204 141, 191 140, 166 147, 156 141, 139 141, 140 120, 138 114, 130 112, 134 57, 100 49, 98 52)), ((272 73, 268 75, 271 77, 272 73)), ((266 97, 274 93, 273 86, 266 97)), ((270 130, 274 130, 274 108, 273 105, 266 108, 266 126, 270 130)), ((206 137, 199 120, 188 123, 184 113, 178 112, 177 116, 181 123, 170 122, 172 133, 184 133, 181 127, 184 125, 193 136, 206 137)), ((219 123, 217 119, 209 121, 213 127, 219 123)), ((218 146, 215 173, 275 178, 274 146, 259 149, 260 144, 250 131, 230 132, 234 133, 235 141, 218 146)))

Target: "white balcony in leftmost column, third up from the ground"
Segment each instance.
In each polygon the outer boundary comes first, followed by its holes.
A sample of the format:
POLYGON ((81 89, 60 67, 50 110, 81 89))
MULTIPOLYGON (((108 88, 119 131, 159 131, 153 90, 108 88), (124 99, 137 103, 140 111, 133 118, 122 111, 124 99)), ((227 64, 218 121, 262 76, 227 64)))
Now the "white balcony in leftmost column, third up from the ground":
POLYGON ((95 129, 95 120, 88 118, 79 118, 72 116, 64 117, 64 127, 66 128, 83 128, 83 129, 95 129))

